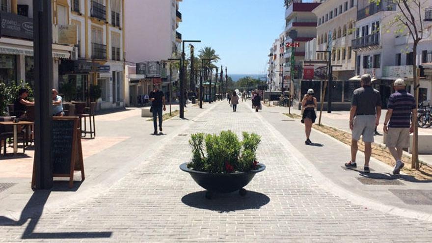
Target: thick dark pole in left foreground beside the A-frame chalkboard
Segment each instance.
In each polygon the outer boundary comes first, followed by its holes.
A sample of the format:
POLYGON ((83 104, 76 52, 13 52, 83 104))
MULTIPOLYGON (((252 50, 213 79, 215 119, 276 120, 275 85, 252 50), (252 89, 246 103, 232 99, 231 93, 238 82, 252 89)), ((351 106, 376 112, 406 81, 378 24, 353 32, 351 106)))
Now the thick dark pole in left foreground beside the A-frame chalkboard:
POLYGON ((51 189, 51 103, 53 88, 53 34, 51 0, 33 0, 34 51, 34 188, 51 189))

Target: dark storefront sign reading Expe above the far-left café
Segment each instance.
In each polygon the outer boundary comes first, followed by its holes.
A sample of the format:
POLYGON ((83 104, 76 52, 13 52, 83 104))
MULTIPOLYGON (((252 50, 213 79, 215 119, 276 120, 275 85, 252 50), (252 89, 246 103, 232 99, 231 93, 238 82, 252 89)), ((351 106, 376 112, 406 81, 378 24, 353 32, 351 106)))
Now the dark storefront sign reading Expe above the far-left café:
POLYGON ((33 40, 33 19, 1 12, 0 35, 33 40))

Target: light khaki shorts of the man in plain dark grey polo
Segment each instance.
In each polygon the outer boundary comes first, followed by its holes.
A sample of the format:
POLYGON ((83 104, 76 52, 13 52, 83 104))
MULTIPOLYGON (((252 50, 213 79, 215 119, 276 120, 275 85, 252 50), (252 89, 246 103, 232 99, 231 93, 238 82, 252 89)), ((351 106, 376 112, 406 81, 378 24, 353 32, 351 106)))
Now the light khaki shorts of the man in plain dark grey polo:
POLYGON ((358 115, 354 117, 354 128, 352 129, 352 140, 360 140, 363 136, 363 142, 374 142, 375 115, 358 115))

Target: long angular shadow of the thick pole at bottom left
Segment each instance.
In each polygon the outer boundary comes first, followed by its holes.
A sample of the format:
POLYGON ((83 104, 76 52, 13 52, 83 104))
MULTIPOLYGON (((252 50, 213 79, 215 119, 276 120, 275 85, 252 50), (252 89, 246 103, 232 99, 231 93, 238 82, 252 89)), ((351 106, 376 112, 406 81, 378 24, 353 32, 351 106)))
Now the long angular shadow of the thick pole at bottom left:
MULTIPOLYGON (((39 219, 42 216, 44 206, 47 203, 51 191, 76 191, 81 183, 75 183, 74 188, 69 189, 67 183, 55 183, 52 190, 34 191, 28 200, 26 207, 21 212, 20 219, 15 221, 5 216, 0 216, 0 226, 23 226, 27 224, 21 239, 88 239, 88 238, 109 238, 112 232, 34 232, 39 219)), ((53 225, 52 228, 55 228, 53 225)))

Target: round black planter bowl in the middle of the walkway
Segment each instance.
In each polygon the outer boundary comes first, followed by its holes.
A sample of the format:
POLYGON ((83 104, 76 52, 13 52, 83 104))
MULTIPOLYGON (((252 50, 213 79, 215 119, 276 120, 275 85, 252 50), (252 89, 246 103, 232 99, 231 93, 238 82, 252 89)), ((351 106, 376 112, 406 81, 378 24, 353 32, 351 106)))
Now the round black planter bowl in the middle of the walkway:
POLYGON ((240 190, 240 195, 244 196, 246 190, 243 189, 255 176, 266 169, 266 165, 260 163, 261 167, 256 170, 248 172, 235 172, 235 173, 207 173, 189 169, 188 163, 182 163, 180 169, 188 172, 192 179, 202 188, 207 189, 206 197, 210 198, 213 192, 216 193, 230 193, 240 190))

